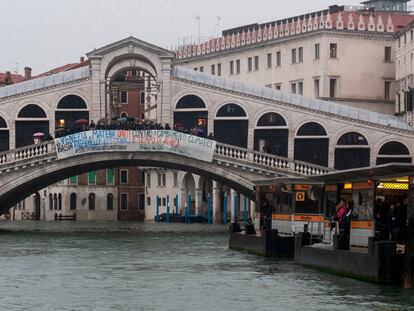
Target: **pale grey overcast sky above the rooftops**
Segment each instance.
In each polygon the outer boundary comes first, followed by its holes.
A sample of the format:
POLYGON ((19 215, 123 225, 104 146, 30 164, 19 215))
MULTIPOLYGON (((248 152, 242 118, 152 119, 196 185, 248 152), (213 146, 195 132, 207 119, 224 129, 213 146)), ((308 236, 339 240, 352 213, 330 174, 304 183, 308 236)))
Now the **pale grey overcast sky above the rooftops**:
POLYGON ((36 75, 128 36, 176 46, 198 36, 197 16, 201 35, 213 36, 332 4, 359 0, 0 0, 0 72, 18 64, 20 73, 29 66, 36 75))

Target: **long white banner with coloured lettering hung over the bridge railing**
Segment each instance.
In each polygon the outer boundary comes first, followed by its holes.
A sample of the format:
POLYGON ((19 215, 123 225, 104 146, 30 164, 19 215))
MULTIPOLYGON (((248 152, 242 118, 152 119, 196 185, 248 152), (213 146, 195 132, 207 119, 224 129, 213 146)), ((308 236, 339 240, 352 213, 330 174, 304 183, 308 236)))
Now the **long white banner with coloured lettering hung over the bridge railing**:
POLYGON ((212 162, 216 142, 168 130, 96 130, 55 139, 58 159, 95 152, 168 152, 212 162))

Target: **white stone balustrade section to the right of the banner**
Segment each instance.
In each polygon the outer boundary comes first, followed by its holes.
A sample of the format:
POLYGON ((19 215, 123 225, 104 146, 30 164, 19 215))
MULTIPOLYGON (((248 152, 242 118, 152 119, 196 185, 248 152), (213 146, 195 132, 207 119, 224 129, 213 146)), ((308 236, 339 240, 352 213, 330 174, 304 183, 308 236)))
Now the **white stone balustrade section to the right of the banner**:
POLYGON ((288 158, 261 153, 258 151, 248 150, 236 146, 217 143, 215 154, 241 160, 252 164, 259 164, 269 169, 281 169, 301 175, 321 175, 330 172, 327 167, 316 164, 295 161, 288 158))

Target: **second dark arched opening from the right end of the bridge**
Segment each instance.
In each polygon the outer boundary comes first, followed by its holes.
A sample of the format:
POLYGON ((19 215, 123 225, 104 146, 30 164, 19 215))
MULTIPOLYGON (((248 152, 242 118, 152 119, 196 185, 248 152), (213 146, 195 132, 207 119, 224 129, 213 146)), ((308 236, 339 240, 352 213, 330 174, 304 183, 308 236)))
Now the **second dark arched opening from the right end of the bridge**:
POLYGON ((370 148, 366 138, 357 132, 346 133, 339 138, 335 148, 335 169, 368 167, 369 157, 370 148))

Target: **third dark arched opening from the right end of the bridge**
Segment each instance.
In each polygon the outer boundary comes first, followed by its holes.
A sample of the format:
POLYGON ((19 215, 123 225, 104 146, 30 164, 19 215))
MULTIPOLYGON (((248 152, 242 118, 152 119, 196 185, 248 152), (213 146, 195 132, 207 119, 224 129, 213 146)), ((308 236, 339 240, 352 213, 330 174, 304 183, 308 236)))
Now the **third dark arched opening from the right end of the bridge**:
POLYGON ((329 138, 322 125, 308 122, 295 138, 295 160, 328 166, 329 138))

